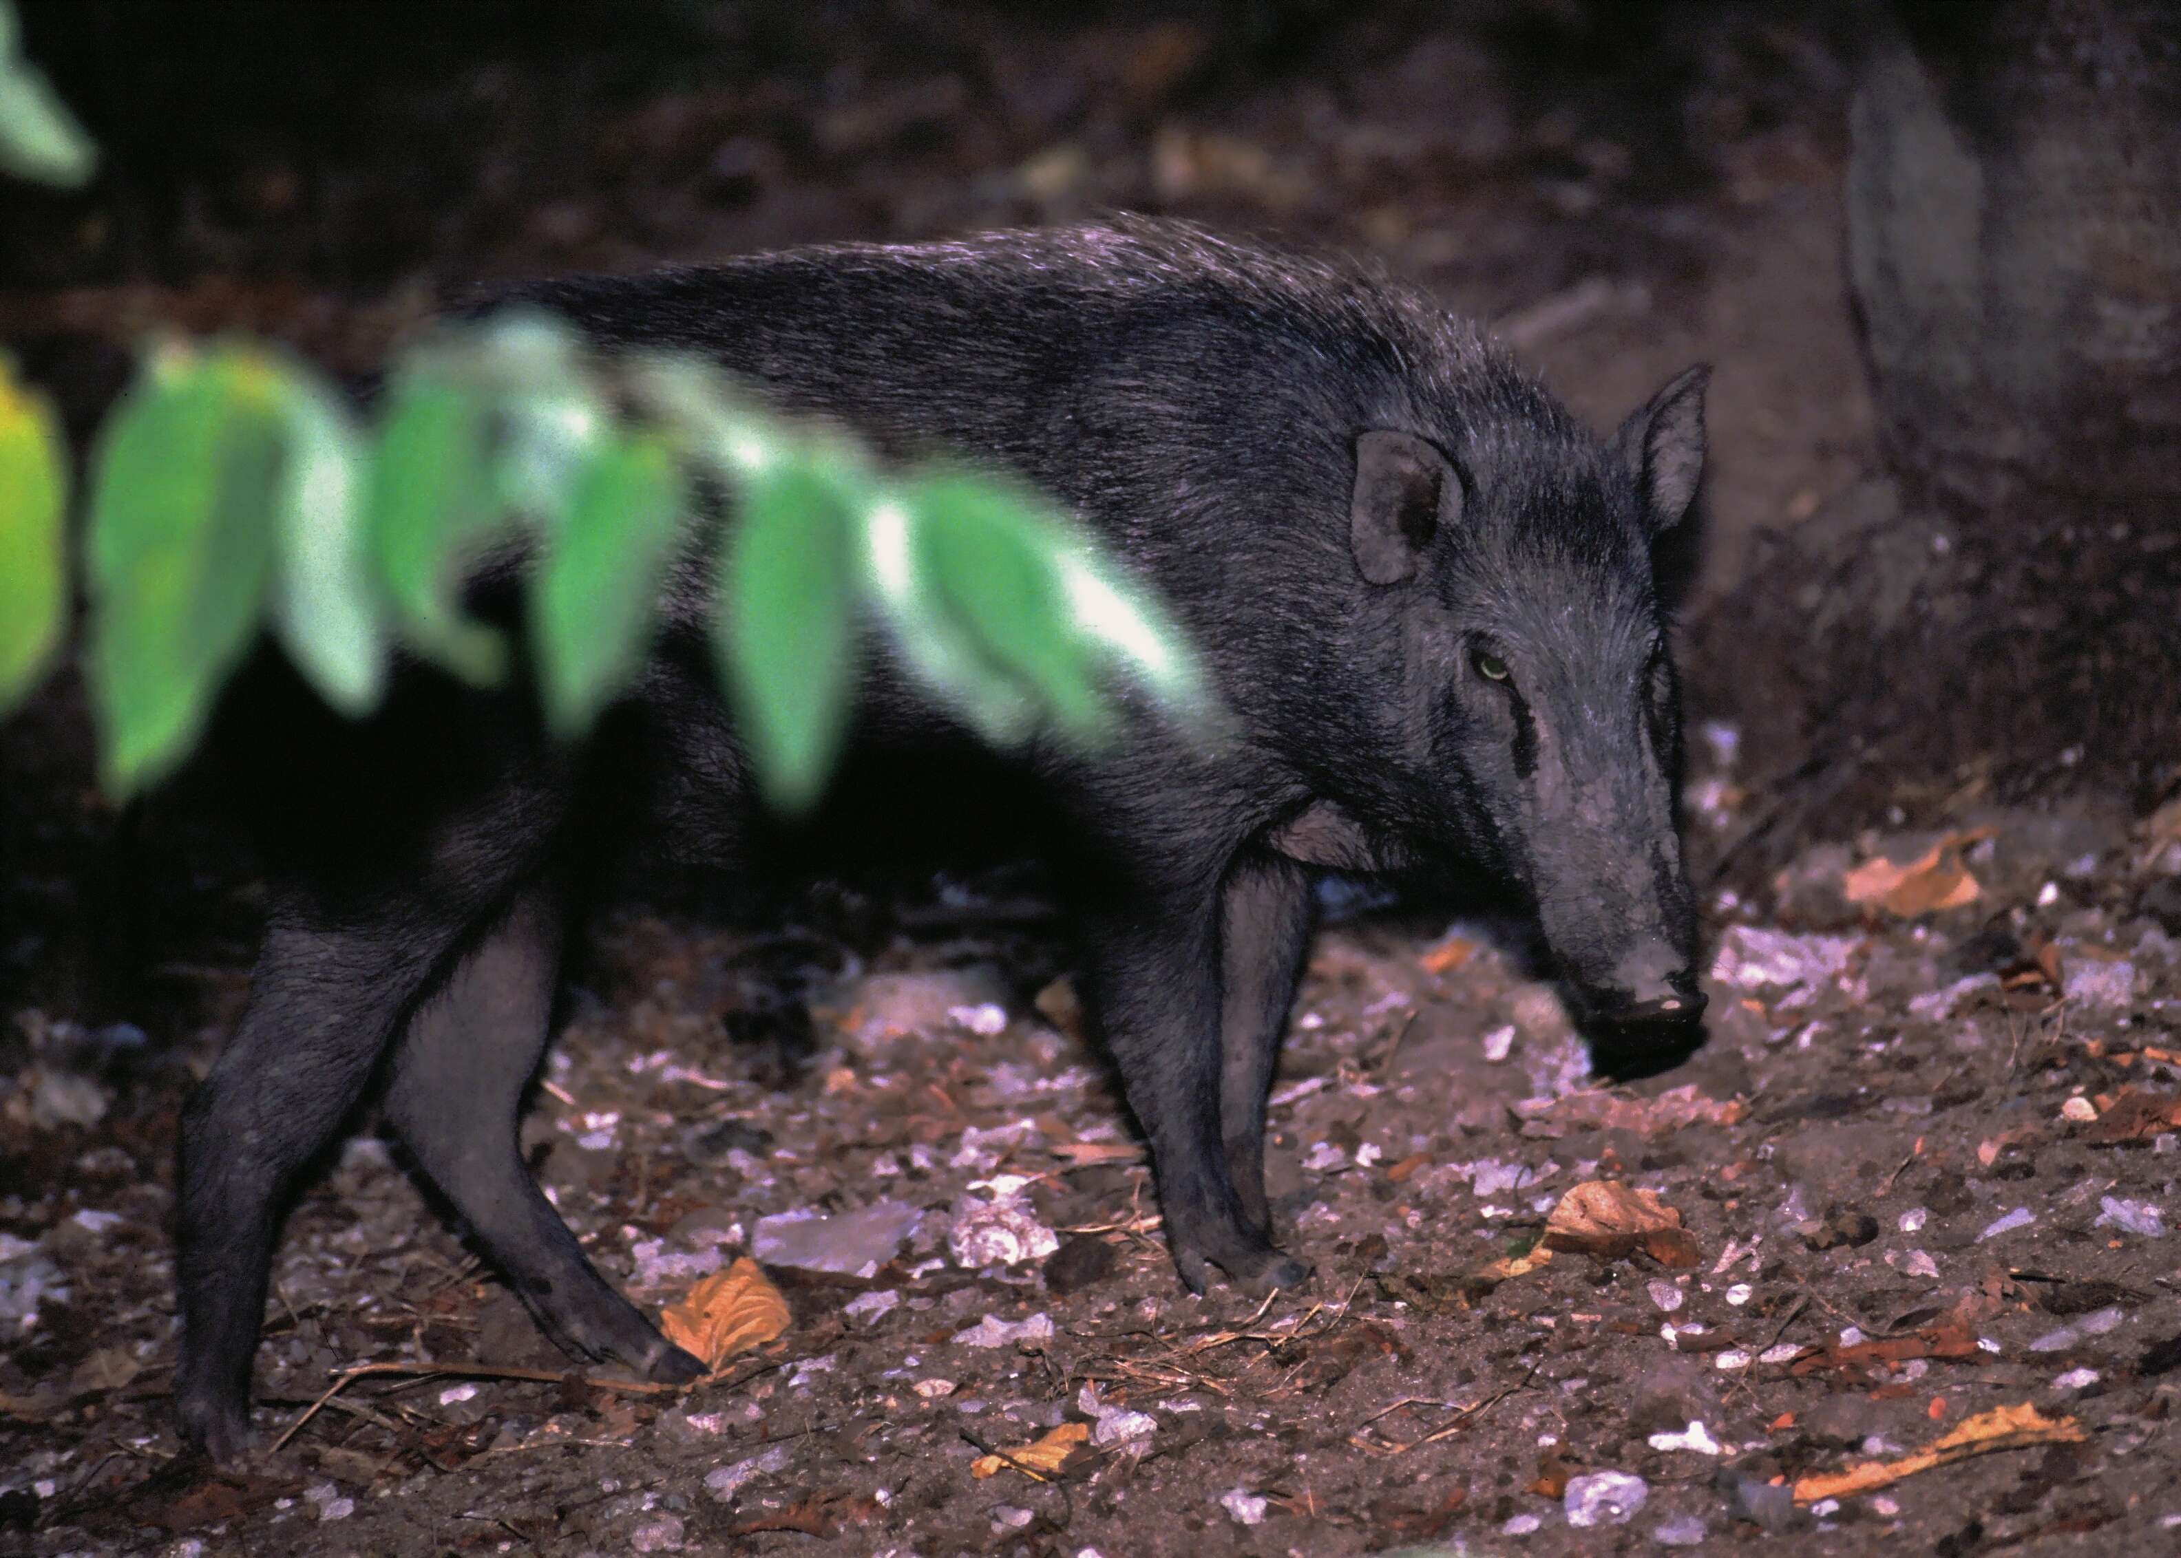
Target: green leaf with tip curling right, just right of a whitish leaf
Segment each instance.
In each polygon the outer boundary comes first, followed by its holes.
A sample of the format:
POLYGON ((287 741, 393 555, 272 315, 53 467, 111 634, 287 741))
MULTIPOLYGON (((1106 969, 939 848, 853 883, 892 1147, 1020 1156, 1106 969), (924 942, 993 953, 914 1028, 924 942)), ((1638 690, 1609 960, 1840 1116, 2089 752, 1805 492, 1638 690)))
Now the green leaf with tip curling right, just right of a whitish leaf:
POLYGON ((410 645, 489 684, 508 671, 506 641, 462 614, 462 571, 499 530, 491 501, 482 390, 436 366, 399 377, 379 425, 364 503, 371 553, 410 645))

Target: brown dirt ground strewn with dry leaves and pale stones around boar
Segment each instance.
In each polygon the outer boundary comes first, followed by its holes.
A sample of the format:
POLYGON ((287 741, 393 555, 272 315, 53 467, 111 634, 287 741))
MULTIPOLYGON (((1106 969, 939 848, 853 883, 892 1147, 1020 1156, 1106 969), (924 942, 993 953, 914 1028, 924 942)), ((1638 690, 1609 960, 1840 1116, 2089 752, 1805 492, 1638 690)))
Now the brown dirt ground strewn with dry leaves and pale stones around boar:
MULTIPOLYGON (((0 333, 81 427, 146 318, 364 368, 467 277, 1132 207, 1376 255, 1601 423, 1710 357, 1690 610, 1871 458, 1817 11, 643 15, 672 68, 547 26, 310 133, 190 120, 89 209, 9 196, 0 333)), ((1503 926, 1335 904, 1274 1094, 1311 1292, 1180 1290, 1034 883, 632 904, 532 1157, 639 1301, 755 1255, 792 1325, 685 1395, 571 1373, 364 1118, 275 1270, 284 1443, 212 1477, 168 1423, 172 1140, 253 887, 87 793, 61 686, 0 728, 0 1551, 2172 1551, 2181 811, 1967 776, 1795 839, 1692 715, 1684 1063, 1592 1074, 1503 926)))

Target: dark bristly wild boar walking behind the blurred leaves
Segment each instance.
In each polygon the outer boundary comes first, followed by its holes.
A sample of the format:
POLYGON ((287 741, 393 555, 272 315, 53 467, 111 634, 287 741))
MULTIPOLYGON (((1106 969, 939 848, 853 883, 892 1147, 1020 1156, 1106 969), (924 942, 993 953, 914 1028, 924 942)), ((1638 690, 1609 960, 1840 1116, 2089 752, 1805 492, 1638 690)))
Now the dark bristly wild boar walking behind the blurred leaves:
MULTIPOLYGON (((1607 445, 1418 294, 1143 220, 550 281, 480 307, 515 301, 606 351, 707 353, 779 410, 894 455, 1003 466, 1082 514, 1193 630, 1232 741, 1141 721, 1114 750, 1040 745, 1019 765, 1062 819, 1088 996, 1191 1288, 1213 1268, 1248 1288, 1306 1275, 1272 1244, 1261 1164, 1311 867, 1498 872, 1601 1009, 1695 1000, 1673 715, 1649 675, 1649 547, 1679 519, 1655 492, 1686 501, 1701 460, 1686 381, 1607 445), (1365 527, 1378 584, 1350 516, 1374 429, 1405 436, 1411 475, 1446 462, 1442 523, 1365 527), (1387 567, 1400 545, 1413 569, 1387 567), (1479 634, 1505 684, 1472 669, 1479 634)), ((412 678, 379 719, 325 721, 308 774, 262 776, 284 795, 260 815, 279 835, 273 920, 183 1135, 177 1395, 212 1453, 246 1440, 281 1196, 375 1074, 556 1340, 654 1377, 696 1368, 539 1196, 515 1109, 591 835, 637 828, 739 867, 772 830, 711 689, 707 614, 689 567, 643 684, 580 752, 541 741, 515 693, 412 678)), ((942 721, 881 662, 861 723, 883 741, 942 721)))

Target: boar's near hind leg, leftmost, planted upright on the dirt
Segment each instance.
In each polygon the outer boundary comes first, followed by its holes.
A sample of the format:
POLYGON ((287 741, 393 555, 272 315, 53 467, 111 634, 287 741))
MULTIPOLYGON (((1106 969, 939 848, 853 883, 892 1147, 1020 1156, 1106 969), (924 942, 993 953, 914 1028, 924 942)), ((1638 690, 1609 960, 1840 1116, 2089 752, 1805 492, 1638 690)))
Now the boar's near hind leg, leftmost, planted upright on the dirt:
POLYGON ((251 1007, 181 1122, 183 1434, 227 1462, 249 1445, 279 1203, 356 1107, 403 1007, 460 935, 427 913, 323 928, 277 913, 251 1007))

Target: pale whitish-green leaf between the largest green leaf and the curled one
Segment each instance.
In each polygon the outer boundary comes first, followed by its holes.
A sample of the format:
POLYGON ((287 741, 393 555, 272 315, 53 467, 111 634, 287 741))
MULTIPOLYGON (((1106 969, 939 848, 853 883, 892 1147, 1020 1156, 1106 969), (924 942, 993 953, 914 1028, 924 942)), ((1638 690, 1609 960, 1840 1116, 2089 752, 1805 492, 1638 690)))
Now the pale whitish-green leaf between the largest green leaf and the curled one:
POLYGON ((369 458, 338 392, 290 368, 281 410, 288 458, 275 512, 273 628, 327 704, 351 719, 386 691, 386 632, 364 534, 369 458))

